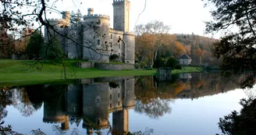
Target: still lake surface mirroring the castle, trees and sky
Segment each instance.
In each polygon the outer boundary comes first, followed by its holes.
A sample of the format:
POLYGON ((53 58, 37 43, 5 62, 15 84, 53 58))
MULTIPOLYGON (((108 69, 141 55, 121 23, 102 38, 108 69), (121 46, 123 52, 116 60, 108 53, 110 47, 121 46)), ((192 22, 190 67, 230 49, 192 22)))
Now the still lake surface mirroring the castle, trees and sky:
POLYGON ((183 73, 0 87, 0 113, 5 126, 24 134, 40 129, 46 134, 215 135, 221 134, 219 118, 239 111, 240 99, 250 94, 239 89, 239 80, 183 73))

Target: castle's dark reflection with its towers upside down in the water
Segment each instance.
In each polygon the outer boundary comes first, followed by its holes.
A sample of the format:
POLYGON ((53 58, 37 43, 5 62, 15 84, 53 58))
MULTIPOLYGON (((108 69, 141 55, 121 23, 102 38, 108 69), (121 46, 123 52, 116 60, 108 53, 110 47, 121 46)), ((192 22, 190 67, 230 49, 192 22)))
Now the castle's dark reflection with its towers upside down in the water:
POLYGON ((83 127, 91 134, 92 130, 108 128, 108 115, 113 112, 112 134, 128 132, 128 109, 134 106, 134 78, 122 79, 84 79, 80 84, 67 85, 59 99, 44 101, 44 123, 62 123, 62 130, 69 130, 69 119, 81 117, 83 127))

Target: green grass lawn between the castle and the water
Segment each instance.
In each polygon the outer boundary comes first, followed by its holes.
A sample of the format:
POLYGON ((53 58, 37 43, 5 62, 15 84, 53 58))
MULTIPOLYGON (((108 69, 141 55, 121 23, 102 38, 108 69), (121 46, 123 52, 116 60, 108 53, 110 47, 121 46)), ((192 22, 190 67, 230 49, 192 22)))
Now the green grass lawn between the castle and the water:
MULTIPOLYGON (((64 79, 63 65, 55 62, 36 62, 20 60, 0 60, 0 85, 8 83, 35 84, 59 81, 64 79)), ((101 69, 80 69, 76 61, 63 62, 66 67, 66 78, 94 78, 101 76, 144 76, 155 75, 156 69, 151 70, 122 70, 110 71, 101 69)), ((201 68, 186 66, 183 69, 172 70, 172 73, 200 72, 201 68)))

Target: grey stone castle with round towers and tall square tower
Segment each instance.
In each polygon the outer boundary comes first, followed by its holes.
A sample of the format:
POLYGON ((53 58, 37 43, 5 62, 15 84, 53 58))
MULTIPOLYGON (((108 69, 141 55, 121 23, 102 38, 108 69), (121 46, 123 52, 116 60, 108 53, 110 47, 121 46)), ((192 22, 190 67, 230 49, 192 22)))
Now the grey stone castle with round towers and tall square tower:
MULTIPOLYGON (((135 35, 130 33, 130 1, 113 0, 114 24, 110 28, 109 16, 94 14, 88 9, 83 20, 73 23, 70 12, 62 12, 62 20, 47 20, 59 34, 53 33, 69 59, 91 62, 109 62, 110 55, 118 55, 119 62, 134 64, 135 35)), ((44 30, 44 35, 47 35, 44 30)), ((44 41, 48 37, 44 36, 44 41)))

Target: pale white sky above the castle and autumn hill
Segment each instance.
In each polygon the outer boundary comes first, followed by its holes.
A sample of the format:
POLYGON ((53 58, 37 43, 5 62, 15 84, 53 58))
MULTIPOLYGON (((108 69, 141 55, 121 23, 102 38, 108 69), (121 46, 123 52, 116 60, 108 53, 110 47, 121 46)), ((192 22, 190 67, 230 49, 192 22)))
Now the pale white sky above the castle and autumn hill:
MULTIPOLYGON (((60 11, 77 11, 87 14, 88 8, 94 8, 94 14, 110 16, 112 27, 112 0, 63 0, 55 5, 60 11), (82 4, 80 4, 82 2, 82 4)), ((60 18, 61 15, 49 15, 48 18, 60 18)), ((169 25, 170 34, 197 34, 207 37, 218 35, 204 34, 204 21, 212 20, 209 8, 204 8, 201 0, 130 0, 130 31, 137 24, 145 24, 151 20, 160 20, 169 25), (146 8, 144 9, 145 2, 146 8), (138 18, 139 14, 140 17, 138 18), (138 19, 138 20, 137 20, 138 19)))

